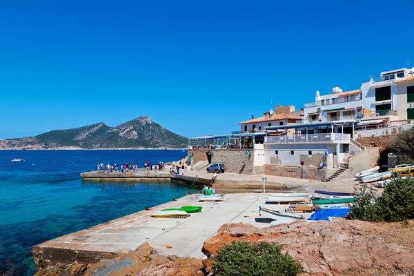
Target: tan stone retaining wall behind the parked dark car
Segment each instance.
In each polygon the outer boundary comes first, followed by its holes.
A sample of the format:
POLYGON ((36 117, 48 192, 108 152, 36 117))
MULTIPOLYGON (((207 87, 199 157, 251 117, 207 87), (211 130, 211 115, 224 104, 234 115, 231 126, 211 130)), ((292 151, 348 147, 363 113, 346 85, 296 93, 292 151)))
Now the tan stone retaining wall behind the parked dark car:
POLYGON ((193 164, 196 164, 207 161, 208 151, 212 153, 211 163, 224 163, 226 172, 253 175, 254 150, 188 150, 188 156, 193 155, 193 164))

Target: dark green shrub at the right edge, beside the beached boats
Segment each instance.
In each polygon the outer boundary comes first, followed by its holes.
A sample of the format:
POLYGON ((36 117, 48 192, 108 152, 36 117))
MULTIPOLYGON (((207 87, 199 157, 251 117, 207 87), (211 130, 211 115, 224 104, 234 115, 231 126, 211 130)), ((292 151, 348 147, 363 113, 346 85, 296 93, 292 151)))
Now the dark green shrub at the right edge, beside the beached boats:
POLYGON ((380 197, 365 187, 359 189, 348 218, 371 222, 414 219, 413 180, 413 177, 396 177, 387 184, 380 197))

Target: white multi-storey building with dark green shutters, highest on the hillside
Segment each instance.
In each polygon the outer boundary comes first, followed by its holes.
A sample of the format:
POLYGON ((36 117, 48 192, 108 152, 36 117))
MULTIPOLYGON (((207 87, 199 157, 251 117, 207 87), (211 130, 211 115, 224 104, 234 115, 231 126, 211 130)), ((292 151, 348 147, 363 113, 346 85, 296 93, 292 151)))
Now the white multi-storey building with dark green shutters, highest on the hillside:
POLYGON ((405 124, 408 118, 414 119, 414 109, 410 109, 413 83, 413 69, 401 68, 382 72, 378 81, 371 77, 357 90, 343 92, 336 87, 323 96, 317 91, 315 102, 305 104, 304 121, 350 121, 344 125, 344 133, 351 135, 366 126, 405 124))

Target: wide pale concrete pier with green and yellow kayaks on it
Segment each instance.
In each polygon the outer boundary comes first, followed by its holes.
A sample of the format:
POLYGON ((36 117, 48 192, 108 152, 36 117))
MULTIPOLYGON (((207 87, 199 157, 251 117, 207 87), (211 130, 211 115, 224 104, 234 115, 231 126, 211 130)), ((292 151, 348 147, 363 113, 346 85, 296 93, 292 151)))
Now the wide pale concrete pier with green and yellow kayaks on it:
MULTIPOLYGON (((259 217, 259 205, 264 204, 265 194, 226 194, 225 201, 216 202, 199 201, 198 197, 199 195, 186 195, 151 210, 143 210, 37 244, 32 247, 34 263, 37 268, 57 263, 96 263, 135 250, 144 242, 148 242, 163 255, 204 258, 201 246, 206 239, 216 235, 223 224, 270 226, 269 219, 259 217), (202 206, 203 210, 201 213, 192 213, 185 219, 151 217, 153 211, 181 206, 202 206)), ((286 207, 269 206, 279 210, 286 207)))

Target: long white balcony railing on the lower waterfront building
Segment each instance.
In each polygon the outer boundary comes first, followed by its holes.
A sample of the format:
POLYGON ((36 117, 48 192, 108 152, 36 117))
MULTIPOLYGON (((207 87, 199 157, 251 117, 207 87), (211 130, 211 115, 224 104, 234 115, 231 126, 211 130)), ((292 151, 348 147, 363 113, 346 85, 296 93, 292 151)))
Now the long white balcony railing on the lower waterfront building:
POLYGON ((294 136, 268 136, 265 137, 265 143, 274 144, 290 144, 290 143, 312 143, 312 142, 325 142, 333 143, 339 141, 349 142, 351 135, 346 133, 319 133, 319 134, 306 134, 306 135, 294 135, 294 136))

